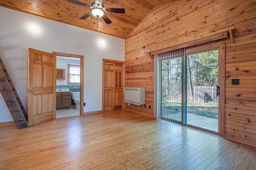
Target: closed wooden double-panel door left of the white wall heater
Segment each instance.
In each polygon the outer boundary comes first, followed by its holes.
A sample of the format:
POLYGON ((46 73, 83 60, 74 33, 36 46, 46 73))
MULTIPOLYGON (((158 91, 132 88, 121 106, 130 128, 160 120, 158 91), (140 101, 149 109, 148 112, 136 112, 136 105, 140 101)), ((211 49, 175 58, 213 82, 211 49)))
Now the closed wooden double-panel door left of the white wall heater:
POLYGON ((110 111, 122 109, 123 101, 123 63, 103 59, 103 100, 102 110, 110 111))

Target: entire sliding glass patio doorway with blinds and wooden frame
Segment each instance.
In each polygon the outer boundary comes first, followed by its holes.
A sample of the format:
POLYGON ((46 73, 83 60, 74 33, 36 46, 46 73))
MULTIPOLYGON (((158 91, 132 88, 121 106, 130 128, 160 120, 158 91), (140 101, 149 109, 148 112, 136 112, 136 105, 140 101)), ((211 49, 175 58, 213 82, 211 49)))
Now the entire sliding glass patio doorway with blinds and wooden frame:
POLYGON ((225 43, 155 55, 157 117, 223 135, 225 43))

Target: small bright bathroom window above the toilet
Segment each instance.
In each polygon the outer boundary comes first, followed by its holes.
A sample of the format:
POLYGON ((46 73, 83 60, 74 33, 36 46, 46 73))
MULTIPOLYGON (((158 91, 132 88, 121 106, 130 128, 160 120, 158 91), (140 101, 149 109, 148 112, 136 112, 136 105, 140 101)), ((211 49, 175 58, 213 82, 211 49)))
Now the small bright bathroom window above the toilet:
POLYGON ((80 84, 80 66, 68 64, 68 84, 80 84))

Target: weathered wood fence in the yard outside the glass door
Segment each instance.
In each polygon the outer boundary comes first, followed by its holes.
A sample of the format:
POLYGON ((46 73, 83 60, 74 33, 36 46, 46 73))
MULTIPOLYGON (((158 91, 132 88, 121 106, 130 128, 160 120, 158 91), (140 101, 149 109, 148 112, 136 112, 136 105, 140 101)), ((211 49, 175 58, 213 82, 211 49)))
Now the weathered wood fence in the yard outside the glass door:
POLYGON ((218 103, 216 86, 193 86, 194 102, 218 103))

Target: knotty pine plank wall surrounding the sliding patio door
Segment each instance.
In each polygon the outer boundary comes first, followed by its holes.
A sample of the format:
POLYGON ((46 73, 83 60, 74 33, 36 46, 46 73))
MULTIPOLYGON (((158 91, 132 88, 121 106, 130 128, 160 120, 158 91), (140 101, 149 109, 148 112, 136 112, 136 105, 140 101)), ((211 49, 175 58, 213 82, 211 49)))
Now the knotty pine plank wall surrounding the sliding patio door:
POLYGON ((126 38, 125 86, 145 87, 148 108, 125 109, 153 116, 154 63, 148 52, 236 27, 226 40, 225 137, 256 145, 255 0, 189 0, 155 7, 126 38), (143 49, 145 46, 145 49, 143 49), (240 79, 240 85, 231 85, 240 79))

